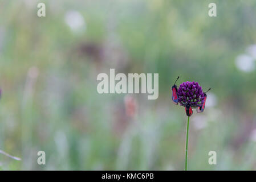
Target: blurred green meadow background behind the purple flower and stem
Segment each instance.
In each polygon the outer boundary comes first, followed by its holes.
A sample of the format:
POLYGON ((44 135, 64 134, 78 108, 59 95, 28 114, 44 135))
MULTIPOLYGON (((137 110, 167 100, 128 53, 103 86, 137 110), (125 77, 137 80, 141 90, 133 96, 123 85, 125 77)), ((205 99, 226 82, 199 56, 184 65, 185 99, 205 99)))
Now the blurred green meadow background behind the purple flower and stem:
POLYGON ((0 154, 0 169, 184 169, 186 115, 170 97, 177 76, 212 88, 190 119, 188 168, 256 169, 255 60, 254 0, 1 0, 0 150, 22 161, 0 154), (109 68, 159 73, 159 98, 130 95, 129 117, 125 94, 97 93, 109 68))

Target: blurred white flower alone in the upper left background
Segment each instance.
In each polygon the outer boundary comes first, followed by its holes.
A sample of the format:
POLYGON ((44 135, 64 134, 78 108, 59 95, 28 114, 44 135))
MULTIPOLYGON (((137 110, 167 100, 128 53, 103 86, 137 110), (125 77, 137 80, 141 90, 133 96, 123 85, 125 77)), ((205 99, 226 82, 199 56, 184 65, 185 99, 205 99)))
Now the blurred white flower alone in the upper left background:
POLYGON ((68 11, 65 15, 65 22, 74 32, 86 29, 86 22, 78 11, 68 11))

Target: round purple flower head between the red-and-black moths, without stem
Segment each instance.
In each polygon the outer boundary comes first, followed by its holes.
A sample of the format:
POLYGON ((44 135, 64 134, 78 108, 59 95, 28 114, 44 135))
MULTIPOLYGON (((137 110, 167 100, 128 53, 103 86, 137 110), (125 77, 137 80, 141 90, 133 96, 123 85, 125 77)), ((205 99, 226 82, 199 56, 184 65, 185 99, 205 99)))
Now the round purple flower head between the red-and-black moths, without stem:
POLYGON ((198 82, 186 81, 180 84, 178 88, 178 103, 181 106, 189 105, 193 108, 204 104, 204 92, 198 82))

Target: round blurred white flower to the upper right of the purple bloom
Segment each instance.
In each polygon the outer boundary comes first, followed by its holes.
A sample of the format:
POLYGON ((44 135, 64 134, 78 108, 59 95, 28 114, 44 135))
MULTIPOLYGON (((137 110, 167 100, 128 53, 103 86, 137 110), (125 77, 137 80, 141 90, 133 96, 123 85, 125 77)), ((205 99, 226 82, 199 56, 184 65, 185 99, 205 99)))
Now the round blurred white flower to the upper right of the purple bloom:
POLYGON ((255 69, 255 61, 253 57, 248 55, 239 55, 235 60, 237 68, 243 72, 252 72, 255 69))

